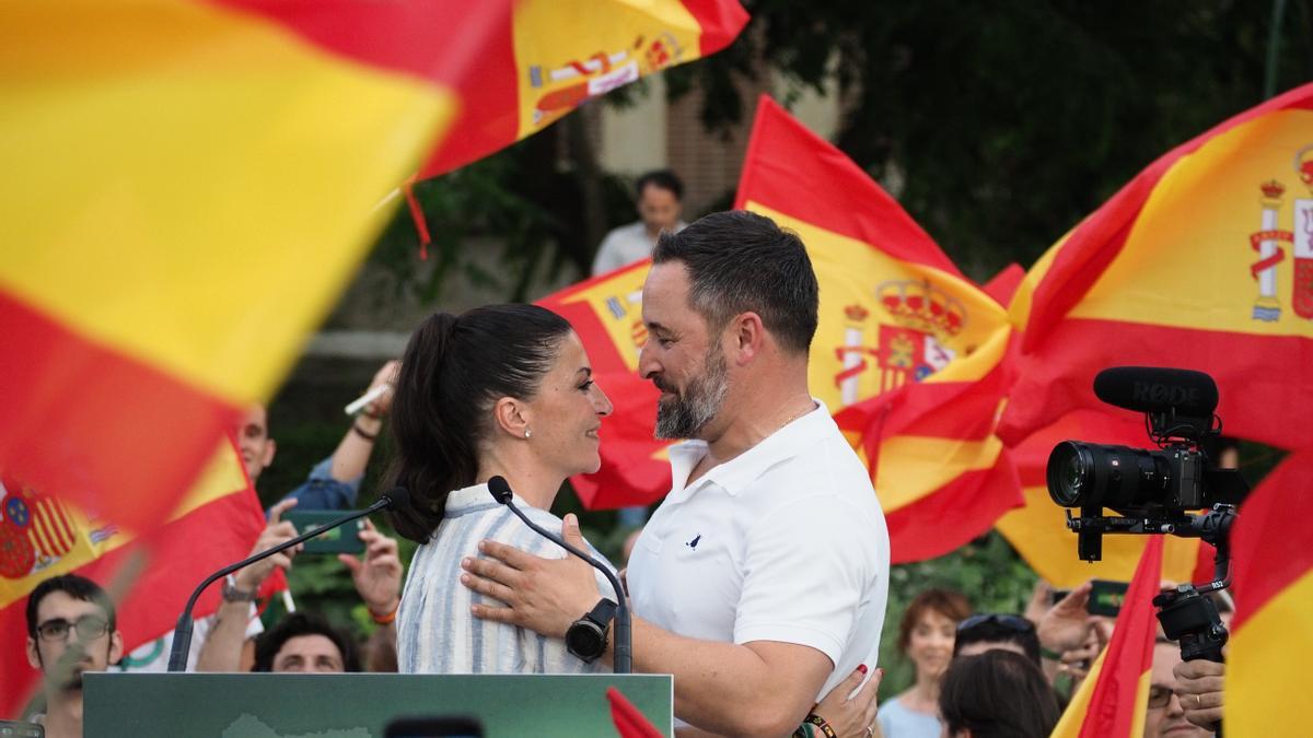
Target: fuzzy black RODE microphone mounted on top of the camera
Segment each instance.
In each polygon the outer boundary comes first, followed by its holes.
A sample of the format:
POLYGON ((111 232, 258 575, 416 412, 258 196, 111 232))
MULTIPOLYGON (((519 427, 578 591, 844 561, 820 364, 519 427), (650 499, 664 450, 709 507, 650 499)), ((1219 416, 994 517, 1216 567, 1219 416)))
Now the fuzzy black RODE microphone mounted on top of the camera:
POLYGON ((1212 418, 1217 383, 1203 372, 1115 366, 1094 378, 1094 394, 1108 404, 1138 412, 1212 418))

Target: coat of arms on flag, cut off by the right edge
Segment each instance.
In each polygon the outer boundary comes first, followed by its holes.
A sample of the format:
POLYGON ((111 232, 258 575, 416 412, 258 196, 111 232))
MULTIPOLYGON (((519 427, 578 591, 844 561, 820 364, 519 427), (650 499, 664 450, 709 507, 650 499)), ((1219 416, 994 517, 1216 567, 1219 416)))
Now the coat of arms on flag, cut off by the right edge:
POLYGON ((1308 198, 1296 198, 1293 227, 1280 227, 1281 206, 1285 198, 1285 185, 1268 180, 1259 185, 1262 196, 1260 228, 1249 236, 1249 246, 1258 260, 1250 265, 1250 273, 1258 282, 1258 298, 1254 301, 1253 318, 1263 322, 1276 322, 1281 318, 1281 302, 1278 294, 1279 268, 1285 260, 1281 244, 1291 244, 1293 263, 1291 309, 1296 315, 1313 319, 1313 144, 1305 146, 1295 155, 1295 173, 1308 188, 1308 198))

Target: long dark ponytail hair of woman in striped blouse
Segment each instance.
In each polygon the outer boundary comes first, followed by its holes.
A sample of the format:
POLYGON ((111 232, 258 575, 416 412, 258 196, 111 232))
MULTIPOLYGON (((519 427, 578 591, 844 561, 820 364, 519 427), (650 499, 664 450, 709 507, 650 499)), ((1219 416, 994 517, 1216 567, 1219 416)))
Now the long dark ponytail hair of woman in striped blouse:
POLYGON ((397 454, 389 483, 410 490, 393 527, 423 544, 442 521, 446 495, 475 482, 479 444, 503 397, 532 398, 570 323, 536 305, 436 313, 411 336, 393 398, 397 454))

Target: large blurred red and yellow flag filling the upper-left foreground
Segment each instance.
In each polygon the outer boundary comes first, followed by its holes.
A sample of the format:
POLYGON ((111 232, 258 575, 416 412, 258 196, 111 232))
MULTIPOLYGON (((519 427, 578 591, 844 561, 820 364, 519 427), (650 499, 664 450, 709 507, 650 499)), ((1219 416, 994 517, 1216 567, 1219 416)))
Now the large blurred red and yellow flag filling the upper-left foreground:
POLYGON ((503 1, 0 8, 0 470, 146 529, 267 398, 503 1))

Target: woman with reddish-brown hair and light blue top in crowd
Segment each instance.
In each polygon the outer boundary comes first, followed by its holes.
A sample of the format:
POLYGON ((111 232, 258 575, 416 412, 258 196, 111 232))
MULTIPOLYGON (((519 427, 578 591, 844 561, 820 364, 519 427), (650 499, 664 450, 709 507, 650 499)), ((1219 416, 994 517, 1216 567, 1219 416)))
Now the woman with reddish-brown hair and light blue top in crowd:
POLYGON ((916 682, 880 708, 884 738, 939 738, 939 678, 953 658, 957 624, 972 613, 970 603, 951 590, 916 595, 898 625, 898 650, 916 667, 916 682))

